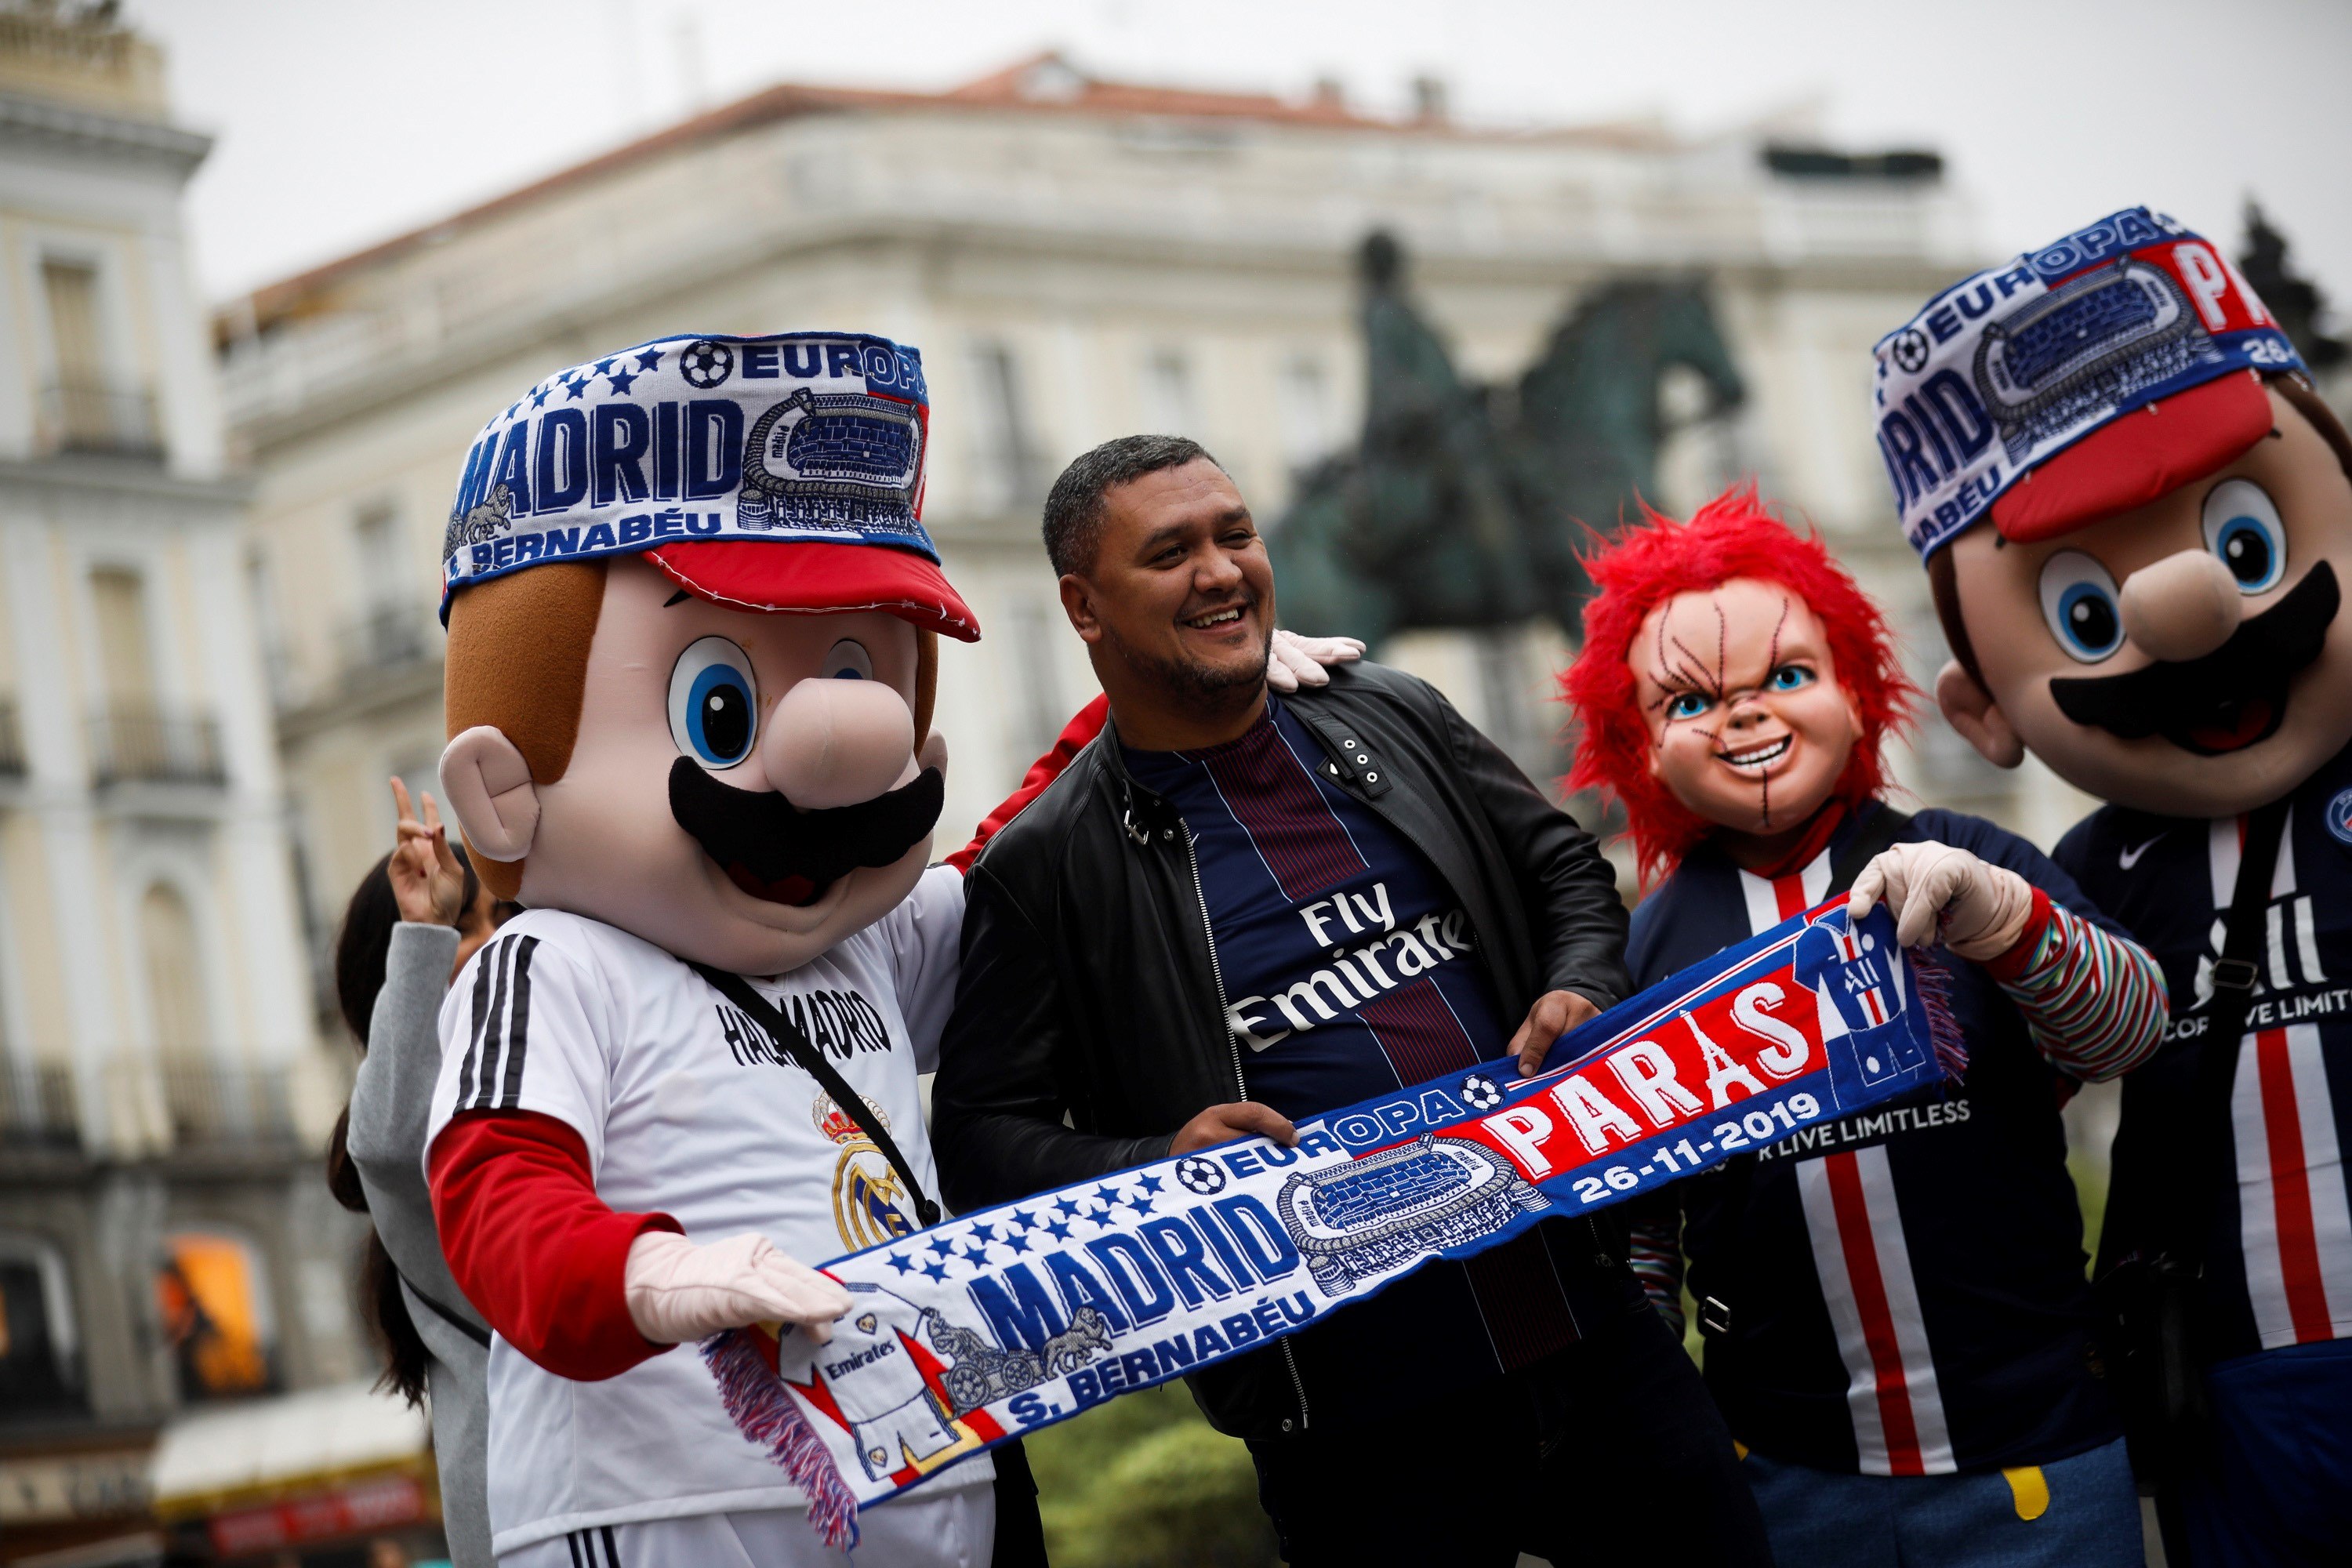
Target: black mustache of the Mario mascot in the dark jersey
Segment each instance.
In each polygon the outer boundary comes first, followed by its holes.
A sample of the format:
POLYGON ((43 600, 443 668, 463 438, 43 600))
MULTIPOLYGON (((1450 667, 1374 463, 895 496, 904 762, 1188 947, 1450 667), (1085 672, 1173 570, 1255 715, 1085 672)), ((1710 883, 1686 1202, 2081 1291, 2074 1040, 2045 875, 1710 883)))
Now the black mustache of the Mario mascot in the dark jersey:
POLYGON ((2267 741, 2286 719, 2286 682, 2319 658, 2340 592, 2319 562, 2284 599, 2241 621, 2230 642, 2187 663, 2129 675, 2053 679, 2058 712, 2124 741, 2164 736, 2185 752, 2220 757, 2267 741))

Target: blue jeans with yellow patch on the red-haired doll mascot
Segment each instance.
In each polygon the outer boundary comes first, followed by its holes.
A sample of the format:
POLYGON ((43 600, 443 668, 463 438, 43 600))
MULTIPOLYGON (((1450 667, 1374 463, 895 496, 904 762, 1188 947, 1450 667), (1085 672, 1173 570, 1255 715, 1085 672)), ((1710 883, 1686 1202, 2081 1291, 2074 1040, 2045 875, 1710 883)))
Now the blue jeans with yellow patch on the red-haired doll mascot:
POLYGON ((1790 1568, 2143 1568, 2124 1439, 2039 1467, 1842 1476, 1750 1453, 1773 1561, 1790 1568), (2016 1481, 2011 1481, 2016 1476, 2016 1481), (2034 1514, 2027 1519, 2025 1514, 2034 1514))

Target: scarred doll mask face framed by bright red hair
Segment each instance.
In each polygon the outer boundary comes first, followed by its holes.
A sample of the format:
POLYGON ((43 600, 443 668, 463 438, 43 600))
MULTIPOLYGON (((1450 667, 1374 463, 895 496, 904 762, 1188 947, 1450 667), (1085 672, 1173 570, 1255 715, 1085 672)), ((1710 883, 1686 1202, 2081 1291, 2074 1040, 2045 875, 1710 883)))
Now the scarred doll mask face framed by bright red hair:
POLYGON ((1649 722, 1649 773, 1717 827, 1802 827, 1846 771, 1860 712, 1820 618, 1788 588, 1733 578, 1642 621, 1625 661, 1649 722))

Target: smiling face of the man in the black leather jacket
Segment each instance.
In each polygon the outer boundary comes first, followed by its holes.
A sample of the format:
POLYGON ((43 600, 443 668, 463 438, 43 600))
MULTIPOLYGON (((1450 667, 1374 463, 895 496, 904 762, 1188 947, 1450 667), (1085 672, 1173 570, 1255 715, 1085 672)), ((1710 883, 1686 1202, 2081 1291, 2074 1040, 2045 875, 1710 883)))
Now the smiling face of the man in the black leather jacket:
POLYGON ((1120 484, 1103 503, 1094 567, 1063 578, 1063 604, 1105 686, 1124 675, 1178 708, 1256 693, 1275 569, 1225 470, 1195 458, 1120 484))

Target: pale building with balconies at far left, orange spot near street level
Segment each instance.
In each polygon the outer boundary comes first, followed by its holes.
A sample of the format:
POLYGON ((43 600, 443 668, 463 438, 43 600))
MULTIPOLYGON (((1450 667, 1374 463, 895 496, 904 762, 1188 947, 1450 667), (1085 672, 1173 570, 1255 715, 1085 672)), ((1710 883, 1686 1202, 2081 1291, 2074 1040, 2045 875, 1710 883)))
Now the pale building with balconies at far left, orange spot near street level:
POLYGON ((106 12, 0 7, 0 1559, 143 1521, 174 1410, 360 1371, 209 143, 106 12))

